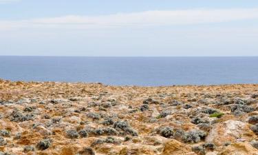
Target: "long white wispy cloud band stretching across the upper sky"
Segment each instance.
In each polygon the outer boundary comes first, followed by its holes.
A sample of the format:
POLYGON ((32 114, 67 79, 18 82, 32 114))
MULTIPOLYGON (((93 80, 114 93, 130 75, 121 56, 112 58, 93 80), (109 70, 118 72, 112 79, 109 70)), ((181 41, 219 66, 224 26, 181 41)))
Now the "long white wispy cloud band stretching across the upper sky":
MULTIPOLYGON (((7 1, 7 0, 0 0, 7 1)), ((12 28, 120 28, 156 25, 192 25, 258 19, 258 8, 156 10, 103 16, 65 16, 21 21, 0 21, 0 30, 12 28)))

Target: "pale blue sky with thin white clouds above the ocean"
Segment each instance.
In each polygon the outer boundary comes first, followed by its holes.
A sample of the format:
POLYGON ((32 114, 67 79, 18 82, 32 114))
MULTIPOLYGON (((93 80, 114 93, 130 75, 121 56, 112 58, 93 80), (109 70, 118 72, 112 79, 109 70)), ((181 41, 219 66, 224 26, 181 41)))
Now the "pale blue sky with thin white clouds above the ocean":
POLYGON ((258 56, 258 1, 0 0, 0 55, 258 56))

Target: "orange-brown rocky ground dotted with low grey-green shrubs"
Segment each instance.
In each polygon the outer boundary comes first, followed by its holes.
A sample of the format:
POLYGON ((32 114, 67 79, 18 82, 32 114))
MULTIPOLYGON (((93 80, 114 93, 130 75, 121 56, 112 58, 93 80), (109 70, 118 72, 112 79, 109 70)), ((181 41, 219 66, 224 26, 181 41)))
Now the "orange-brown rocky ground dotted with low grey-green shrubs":
POLYGON ((0 80, 0 155, 258 154, 258 85, 0 80))

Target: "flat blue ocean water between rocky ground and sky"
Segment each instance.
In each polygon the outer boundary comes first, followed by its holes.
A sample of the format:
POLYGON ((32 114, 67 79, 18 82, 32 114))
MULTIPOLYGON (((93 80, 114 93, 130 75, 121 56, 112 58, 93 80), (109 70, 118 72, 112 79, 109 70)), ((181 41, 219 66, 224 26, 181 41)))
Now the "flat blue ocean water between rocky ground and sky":
POLYGON ((258 83, 258 57, 0 56, 0 79, 144 86, 258 83))

